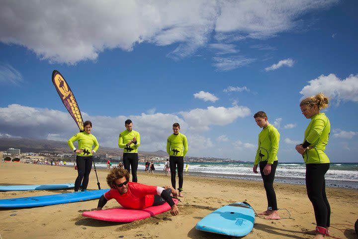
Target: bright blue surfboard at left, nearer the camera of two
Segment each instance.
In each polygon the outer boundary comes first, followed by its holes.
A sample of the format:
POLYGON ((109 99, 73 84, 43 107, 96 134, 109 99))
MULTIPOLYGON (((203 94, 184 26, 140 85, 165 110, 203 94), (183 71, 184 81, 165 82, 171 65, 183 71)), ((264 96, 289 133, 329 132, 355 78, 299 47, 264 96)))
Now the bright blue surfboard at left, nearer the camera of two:
POLYGON ((109 189, 101 189, 28 198, 1 199, 0 208, 32 208, 63 203, 75 203, 100 198, 100 196, 108 190, 109 189))

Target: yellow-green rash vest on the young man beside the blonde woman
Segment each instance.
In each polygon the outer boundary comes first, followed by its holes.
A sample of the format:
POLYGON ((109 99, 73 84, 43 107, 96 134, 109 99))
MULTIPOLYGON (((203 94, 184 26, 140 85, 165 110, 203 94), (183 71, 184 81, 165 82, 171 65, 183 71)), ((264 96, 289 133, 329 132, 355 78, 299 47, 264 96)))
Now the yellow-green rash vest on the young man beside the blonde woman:
POLYGON ((277 161, 279 137, 278 130, 271 124, 261 130, 254 164, 259 164, 259 161, 268 161, 269 164, 277 161))

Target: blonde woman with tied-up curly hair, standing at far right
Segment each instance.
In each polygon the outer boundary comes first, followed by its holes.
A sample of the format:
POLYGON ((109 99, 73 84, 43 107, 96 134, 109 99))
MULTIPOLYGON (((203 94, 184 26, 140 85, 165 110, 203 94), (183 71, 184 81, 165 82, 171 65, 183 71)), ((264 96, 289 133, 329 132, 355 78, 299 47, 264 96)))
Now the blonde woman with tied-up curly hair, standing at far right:
POLYGON ((303 99, 300 103, 302 114, 311 119, 302 144, 296 145, 306 163, 306 188, 316 218, 316 230, 308 234, 316 235, 314 239, 322 239, 329 234, 331 208, 326 196, 325 174, 330 167, 330 160, 325 154, 331 124, 321 109, 328 107, 328 98, 319 93, 303 99))

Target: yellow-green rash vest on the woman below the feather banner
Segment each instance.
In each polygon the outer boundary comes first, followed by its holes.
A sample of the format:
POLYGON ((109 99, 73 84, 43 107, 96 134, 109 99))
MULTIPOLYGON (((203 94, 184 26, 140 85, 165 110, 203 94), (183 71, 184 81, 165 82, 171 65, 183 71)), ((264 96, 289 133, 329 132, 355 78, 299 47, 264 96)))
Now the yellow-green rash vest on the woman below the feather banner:
POLYGON ((96 137, 93 134, 86 133, 85 131, 76 133, 69 139, 69 141, 67 141, 67 144, 72 150, 76 149, 73 144, 73 142, 75 142, 76 140, 79 143, 79 149, 84 150, 82 153, 77 153, 78 156, 92 156, 92 150, 95 152, 99 147, 96 137), (94 148, 92 149, 93 145, 94 148))

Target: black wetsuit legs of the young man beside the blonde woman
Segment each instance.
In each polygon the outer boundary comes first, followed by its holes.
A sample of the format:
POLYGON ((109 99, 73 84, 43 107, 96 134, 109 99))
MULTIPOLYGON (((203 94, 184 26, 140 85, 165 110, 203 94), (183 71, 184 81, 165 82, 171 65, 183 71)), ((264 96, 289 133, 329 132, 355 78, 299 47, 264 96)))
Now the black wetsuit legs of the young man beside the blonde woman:
POLYGON ((260 173, 261 177, 264 180, 264 187, 266 190, 266 197, 268 199, 268 209, 271 208, 272 211, 277 211, 277 201, 276 201, 276 193, 273 189, 273 180, 274 175, 276 173, 276 167, 277 167, 277 160, 273 161, 271 164, 271 172, 269 175, 264 174, 264 168, 267 165, 268 161, 261 161, 260 162, 260 173))

